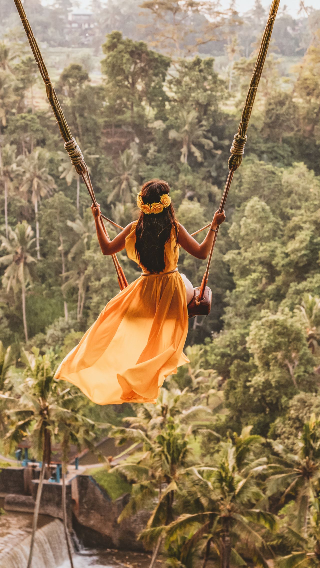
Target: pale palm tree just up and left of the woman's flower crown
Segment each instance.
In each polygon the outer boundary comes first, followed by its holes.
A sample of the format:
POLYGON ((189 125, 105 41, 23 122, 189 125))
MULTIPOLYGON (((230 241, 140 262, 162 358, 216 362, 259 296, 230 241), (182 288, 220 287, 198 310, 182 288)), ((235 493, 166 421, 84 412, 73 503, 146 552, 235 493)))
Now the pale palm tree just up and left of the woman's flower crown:
POLYGON ((131 144, 130 149, 119 153, 119 160, 115 164, 116 175, 111 179, 113 191, 108 197, 108 202, 120 201, 121 203, 131 203, 132 193, 138 187, 138 162, 140 154, 136 144, 131 144))

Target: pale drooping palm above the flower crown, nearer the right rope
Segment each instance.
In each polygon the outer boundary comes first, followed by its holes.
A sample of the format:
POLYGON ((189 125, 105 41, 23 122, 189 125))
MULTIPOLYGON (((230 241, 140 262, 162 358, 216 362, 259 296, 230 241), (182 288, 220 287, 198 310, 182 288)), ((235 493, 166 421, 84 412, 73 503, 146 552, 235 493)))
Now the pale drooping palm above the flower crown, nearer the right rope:
POLYGON ((178 130, 169 131, 169 139, 177 140, 182 143, 181 158, 182 164, 188 164, 189 152, 202 162, 203 157, 195 144, 200 144, 206 150, 213 148, 213 142, 205 137, 207 128, 205 124, 199 124, 197 111, 182 110, 178 117, 178 130))

